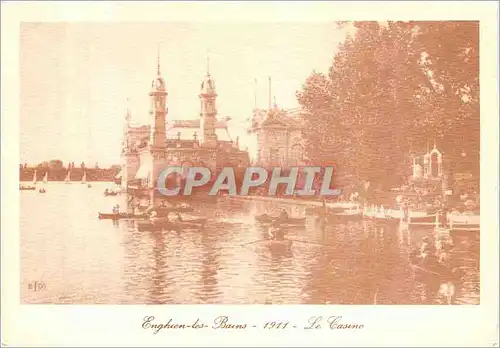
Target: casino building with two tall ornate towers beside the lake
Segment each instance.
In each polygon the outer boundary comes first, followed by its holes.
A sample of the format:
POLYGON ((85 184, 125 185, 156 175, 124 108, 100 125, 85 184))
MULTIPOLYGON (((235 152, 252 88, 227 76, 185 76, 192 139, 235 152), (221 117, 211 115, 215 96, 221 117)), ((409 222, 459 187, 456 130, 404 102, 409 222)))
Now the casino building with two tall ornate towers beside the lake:
MULTIPOLYGON (((133 190, 155 191, 157 179, 167 166, 208 167, 216 173, 223 166, 244 167, 248 152, 238 148, 227 128, 227 120, 217 119, 215 82, 207 72, 199 93, 200 117, 194 120, 168 118, 167 89, 160 73, 152 81, 150 125, 132 127, 131 114, 125 117, 122 146, 122 186, 133 190)), ((129 190, 131 191, 131 190, 129 190)))

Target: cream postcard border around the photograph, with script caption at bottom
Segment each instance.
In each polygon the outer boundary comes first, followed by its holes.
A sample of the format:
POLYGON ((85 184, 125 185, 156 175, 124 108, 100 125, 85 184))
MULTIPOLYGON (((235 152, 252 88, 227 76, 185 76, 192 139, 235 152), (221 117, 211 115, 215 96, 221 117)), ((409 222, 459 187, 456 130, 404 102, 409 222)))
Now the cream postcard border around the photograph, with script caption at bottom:
MULTIPOLYGON (((2 4, 2 344, 123 346, 493 346, 498 345, 498 5, 490 2, 33 2, 2 4), (480 20, 481 305, 478 306, 66 306, 19 299, 19 23, 23 21, 480 20), (191 323, 227 315, 296 330, 141 328, 145 316, 191 323), (362 330, 300 329, 312 316, 343 318, 362 330), (195 331, 195 332, 193 332, 195 331)), ((30 213, 30 212, 23 212, 30 213)))

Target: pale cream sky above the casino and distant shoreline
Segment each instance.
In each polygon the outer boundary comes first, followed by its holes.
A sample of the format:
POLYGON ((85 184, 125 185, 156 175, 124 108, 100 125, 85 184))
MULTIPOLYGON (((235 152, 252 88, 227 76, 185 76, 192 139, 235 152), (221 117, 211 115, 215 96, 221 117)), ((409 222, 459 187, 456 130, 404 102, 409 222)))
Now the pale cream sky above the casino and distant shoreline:
POLYGON ((254 156, 245 122, 272 96, 298 107, 311 72, 327 72, 346 30, 335 23, 24 23, 21 26, 20 160, 120 163, 127 105, 135 125, 150 123, 158 50, 169 119, 196 119, 207 72, 219 118, 254 156), (257 81, 257 83, 255 83, 257 81), (127 99, 130 99, 127 102, 127 99))

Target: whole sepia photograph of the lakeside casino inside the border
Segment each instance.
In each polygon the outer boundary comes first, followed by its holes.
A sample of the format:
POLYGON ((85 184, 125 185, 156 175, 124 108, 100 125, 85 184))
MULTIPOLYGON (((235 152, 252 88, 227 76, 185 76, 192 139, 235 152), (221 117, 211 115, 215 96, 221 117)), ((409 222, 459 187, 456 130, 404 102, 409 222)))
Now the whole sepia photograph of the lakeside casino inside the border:
POLYGON ((479 28, 21 23, 21 303, 480 304, 479 28))

